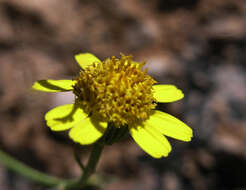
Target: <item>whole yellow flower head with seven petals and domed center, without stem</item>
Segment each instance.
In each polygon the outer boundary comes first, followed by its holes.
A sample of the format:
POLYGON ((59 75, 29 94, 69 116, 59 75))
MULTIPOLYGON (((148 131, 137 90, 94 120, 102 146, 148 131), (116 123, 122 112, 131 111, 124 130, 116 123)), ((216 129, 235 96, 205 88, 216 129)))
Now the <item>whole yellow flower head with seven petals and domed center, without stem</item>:
POLYGON ((121 55, 101 62, 92 54, 75 56, 82 70, 76 80, 40 80, 33 89, 45 92, 73 91, 74 104, 58 106, 45 115, 53 131, 70 129, 69 136, 82 145, 103 136, 108 126, 129 130, 135 142, 154 158, 171 151, 167 138, 190 141, 192 130, 177 118, 155 110, 156 103, 183 98, 174 85, 155 85, 142 71, 145 63, 121 55), (165 135, 165 136, 164 136, 165 135))

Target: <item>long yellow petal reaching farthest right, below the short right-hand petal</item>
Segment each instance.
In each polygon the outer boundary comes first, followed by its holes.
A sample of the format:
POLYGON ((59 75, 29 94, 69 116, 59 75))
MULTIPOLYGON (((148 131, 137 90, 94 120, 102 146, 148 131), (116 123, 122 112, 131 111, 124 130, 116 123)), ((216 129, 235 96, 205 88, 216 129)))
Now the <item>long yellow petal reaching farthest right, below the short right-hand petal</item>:
POLYGON ((190 141, 193 136, 192 129, 185 123, 161 111, 155 110, 145 123, 162 134, 178 140, 190 141))

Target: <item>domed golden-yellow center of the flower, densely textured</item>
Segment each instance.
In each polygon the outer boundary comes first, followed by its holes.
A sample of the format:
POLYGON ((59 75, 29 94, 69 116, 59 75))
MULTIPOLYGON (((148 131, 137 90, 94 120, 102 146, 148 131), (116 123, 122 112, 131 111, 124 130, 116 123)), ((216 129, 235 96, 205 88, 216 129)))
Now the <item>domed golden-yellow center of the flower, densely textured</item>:
POLYGON ((76 103, 116 127, 148 119, 156 107, 152 92, 156 81, 141 70, 144 64, 122 54, 120 59, 113 56, 86 67, 74 86, 76 103))

